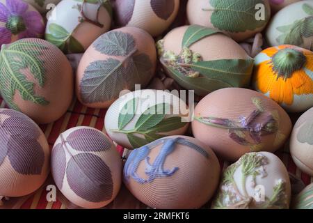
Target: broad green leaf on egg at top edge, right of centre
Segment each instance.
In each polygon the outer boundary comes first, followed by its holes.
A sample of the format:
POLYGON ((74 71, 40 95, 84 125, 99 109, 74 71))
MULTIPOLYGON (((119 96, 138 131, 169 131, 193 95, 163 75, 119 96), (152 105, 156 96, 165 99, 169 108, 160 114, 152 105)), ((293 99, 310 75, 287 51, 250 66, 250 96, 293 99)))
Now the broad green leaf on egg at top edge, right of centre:
POLYGON ((255 19, 257 13, 255 6, 259 3, 264 4, 264 0, 209 0, 209 3, 214 8, 211 14, 211 24, 217 29, 225 31, 253 31, 264 26, 270 15, 266 10, 265 20, 255 19))

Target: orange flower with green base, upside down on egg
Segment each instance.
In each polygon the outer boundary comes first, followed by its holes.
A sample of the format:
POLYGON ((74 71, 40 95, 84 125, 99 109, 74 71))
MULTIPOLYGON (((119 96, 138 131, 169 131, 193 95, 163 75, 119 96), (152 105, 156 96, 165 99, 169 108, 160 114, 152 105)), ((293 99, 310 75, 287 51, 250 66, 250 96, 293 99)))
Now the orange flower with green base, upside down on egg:
POLYGON ((295 94, 313 93, 313 80, 305 73, 305 68, 313 71, 313 52, 292 45, 282 45, 270 47, 262 53, 270 59, 255 67, 253 81, 259 91, 269 92, 270 98, 286 105, 294 102, 295 94), (288 51, 283 52, 284 49, 288 51), (292 54, 291 60, 286 56, 289 52, 292 54), (279 55, 279 58, 275 59, 275 55, 279 55))

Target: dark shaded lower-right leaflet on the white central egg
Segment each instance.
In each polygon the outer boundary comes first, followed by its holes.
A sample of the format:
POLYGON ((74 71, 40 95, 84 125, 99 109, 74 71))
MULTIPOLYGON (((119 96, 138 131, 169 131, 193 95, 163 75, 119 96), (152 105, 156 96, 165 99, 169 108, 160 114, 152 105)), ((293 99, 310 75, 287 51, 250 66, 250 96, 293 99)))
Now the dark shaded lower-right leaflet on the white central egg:
POLYGON ((163 119, 159 124, 155 125, 150 130, 153 132, 171 132, 183 128, 188 123, 182 122, 182 118, 179 116, 163 119))

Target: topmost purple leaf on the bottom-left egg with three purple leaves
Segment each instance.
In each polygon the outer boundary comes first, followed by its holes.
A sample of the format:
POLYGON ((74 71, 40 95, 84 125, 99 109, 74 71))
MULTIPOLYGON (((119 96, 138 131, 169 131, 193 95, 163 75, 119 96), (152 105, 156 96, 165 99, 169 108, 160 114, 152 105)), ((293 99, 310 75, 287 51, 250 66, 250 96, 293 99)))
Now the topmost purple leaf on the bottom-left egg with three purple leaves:
POLYGON ((68 135, 67 143, 77 151, 99 152, 109 150, 111 141, 98 130, 81 128, 68 135))

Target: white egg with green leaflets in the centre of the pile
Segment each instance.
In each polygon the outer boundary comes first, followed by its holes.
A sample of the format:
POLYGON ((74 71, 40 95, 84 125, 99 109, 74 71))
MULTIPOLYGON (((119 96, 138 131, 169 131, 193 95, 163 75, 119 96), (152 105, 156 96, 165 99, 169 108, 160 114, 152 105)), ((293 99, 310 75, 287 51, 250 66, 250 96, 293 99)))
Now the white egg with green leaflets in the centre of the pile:
MULTIPOLYGON (((106 128, 107 134, 109 134, 109 137, 113 141, 115 141, 120 146, 123 146, 125 148, 134 149, 143 146, 144 144, 147 144, 148 142, 154 141, 152 139, 143 139, 143 134, 138 134, 135 130, 136 124, 139 123, 139 118, 143 118, 144 114, 146 114, 147 109, 150 107, 155 107, 156 105, 162 105, 162 104, 168 104, 170 105, 170 111, 168 113, 159 112, 157 114, 163 115, 164 117, 159 119, 160 116, 154 118, 150 118, 147 120, 143 126, 146 126, 146 128, 141 132, 146 132, 146 130, 153 130, 154 127, 157 126, 158 123, 162 121, 163 124, 168 126, 170 128, 170 131, 168 131, 166 126, 165 132, 162 130, 159 132, 158 130, 156 132, 152 131, 152 135, 150 137, 155 140, 156 135, 159 134, 159 138, 162 136, 170 136, 170 135, 177 135, 177 134, 184 134, 186 130, 188 129, 189 123, 186 122, 187 120, 185 118, 188 118, 189 111, 187 109, 187 105, 184 102, 184 100, 177 97, 177 95, 174 95, 172 93, 169 93, 168 91, 160 91, 160 90, 138 90, 134 92, 127 93, 125 95, 122 95, 118 100, 116 100, 111 107, 109 107, 108 111, 106 112, 106 116, 104 118, 104 126, 106 128), (133 101, 133 104, 129 104, 129 102, 133 101), (129 108, 131 108, 131 105, 134 105, 135 112, 130 112, 131 119, 127 122, 126 125, 122 126, 123 128, 120 129, 119 123, 122 123, 119 121, 122 120, 123 112, 127 111, 125 110, 125 107, 127 105, 130 105, 129 108), (168 118, 177 118, 174 123, 170 121, 171 119, 168 118), (157 120, 158 122, 154 122, 154 120, 157 120), (152 122, 152 123, 151 123, 152 122), (147 124, 149 123, 149 124, 147 124), (118 131, 116 131, 118 130, 118 131), (120 132, 122 130, 122 132, 120 132), (134 137, 139 137, 139 139, 135 139, 135 142, 132 143, 129 141, 129 134, 125 134, 123 131, 132 131, 131 135, 134 135, 134 137), (141 140, 140 140, 141 139, 141 140)), ((165 107, 165 106, 163 106, 165 107)), ((161 107, 162 109, 162 107, 161 107)), ((131 110, 131 111, 134 111, 131 110)), ((158 111, 159 109, 157 109, 158 111)), ((163 110, 163 109, 162 109, 163 110)), ((155 114, 156 112, 152 112, 155 114)), ((126 120, 127 118, 125 118, 126 120)), ((142 121, 142 120, 141 120, 142 121)), ((158 138, 157 138, 158 139, 158 138)))

